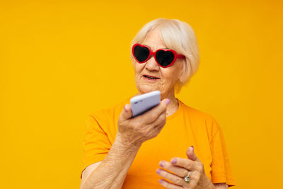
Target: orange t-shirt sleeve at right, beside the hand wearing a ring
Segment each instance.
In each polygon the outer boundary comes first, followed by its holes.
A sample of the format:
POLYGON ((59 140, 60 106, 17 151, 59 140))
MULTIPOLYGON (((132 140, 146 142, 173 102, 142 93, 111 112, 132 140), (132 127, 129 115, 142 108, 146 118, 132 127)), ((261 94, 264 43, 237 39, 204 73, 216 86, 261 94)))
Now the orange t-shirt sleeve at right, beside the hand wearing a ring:
POLYGON ((235 178, 231 170, 231 165, 226 149, 224 134, 217 122, 217 131, 212 137, 212 183, 226 183, 229 186, 236 185, 235 178))

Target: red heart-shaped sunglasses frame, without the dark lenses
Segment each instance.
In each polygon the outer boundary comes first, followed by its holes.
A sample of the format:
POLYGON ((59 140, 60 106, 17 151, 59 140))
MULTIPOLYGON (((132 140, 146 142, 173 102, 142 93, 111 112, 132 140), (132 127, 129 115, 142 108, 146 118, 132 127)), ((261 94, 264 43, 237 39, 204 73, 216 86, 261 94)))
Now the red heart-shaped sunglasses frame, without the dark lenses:
MULTIPOLYGON (((175 50, 163 50, 163 49, 158 49, 158 50, 156 50, 155 52, 152 52, 152 51, 149 49, 149 47, 147 47, 147 46, 145 46, 145 45, 141 45, 141 44, 139 44, 139 43, 136 43, 136 44, 133 45, 133 47, 132 47, 132 55, 133 55, 134 59, 136 59, 137 62, 139 62, 140 64, 141 64, 141 63, 144 63, 144 62, 146 62, 146 61, 148 61, 148 60, 151 58, 151 56, 154 56, 155 62, 159 65, 159 67, 163 67, 163 66, 161 66, 161 64, 159 64, 159 62, 158 62, 157 59, 156 59, 156 52, 158 52, 159 50, 162 50, 162 51, 170 51, 170 52, 172 52, 172 53, 174 54, 174 59, 173 59, 173 61, 172 61, 170 64, 168 64, 166 67, 170 67, 170 66, 176 61, 176 59, 178 59, 178 58, 185 58, 184 55, 179 55, 179 54, 177 54, 177 52, 175 52, 175 50), (149 50, 149 57, 147 57, 146 60, 144 60, 143 62, 139 62, 139 60, 137 60, 136 56, 134 56, 134 47, 137 47, 137 46, 139 46, 139 47, 146 47, 146 48, 149 50)), ((166 67, 163 67, 163 68, 166 68, 166 67)))

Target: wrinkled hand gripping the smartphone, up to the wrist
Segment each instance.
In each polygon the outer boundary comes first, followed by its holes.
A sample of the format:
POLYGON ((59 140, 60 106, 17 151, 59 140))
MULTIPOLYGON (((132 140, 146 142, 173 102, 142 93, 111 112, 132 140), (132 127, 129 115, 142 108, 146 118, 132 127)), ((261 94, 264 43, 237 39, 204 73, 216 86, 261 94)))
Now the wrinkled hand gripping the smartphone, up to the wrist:
POLYGON ((166 108, 170 100, 163 99, 159 105, 132 118, 129 104, 124 106, 118 120, 117 139, 122 144, 139 146, 142 142, 157 136, 166 123, 166 108))

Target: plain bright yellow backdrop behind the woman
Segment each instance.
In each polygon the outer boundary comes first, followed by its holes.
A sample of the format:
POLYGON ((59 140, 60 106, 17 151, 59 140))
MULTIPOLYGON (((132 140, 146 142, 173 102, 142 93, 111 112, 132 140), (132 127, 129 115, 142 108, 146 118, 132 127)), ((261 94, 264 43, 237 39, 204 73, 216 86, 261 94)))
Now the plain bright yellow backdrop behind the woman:
POLYGON ((221 124, 234 188, 279 188, 282 9, 282 1, 1 1, 0 188, 79 188, 86 116, 136 93, 129 45, 155 18, 195 30, 200 69, 178 98, 221 124))

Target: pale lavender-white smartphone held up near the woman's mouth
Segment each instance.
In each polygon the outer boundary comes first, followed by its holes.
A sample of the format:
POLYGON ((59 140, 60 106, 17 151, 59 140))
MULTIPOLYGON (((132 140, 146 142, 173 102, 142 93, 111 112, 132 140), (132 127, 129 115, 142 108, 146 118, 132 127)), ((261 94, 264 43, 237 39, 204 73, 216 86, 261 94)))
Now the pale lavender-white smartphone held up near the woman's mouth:
POLYGON ((147 110, 154 108, 154 106, 160 103, 160 91, 152 91, 140 96, 134 96, 131 98, 130 103, 132 117, 136 117, 137 115, 141 115, 147 110))

